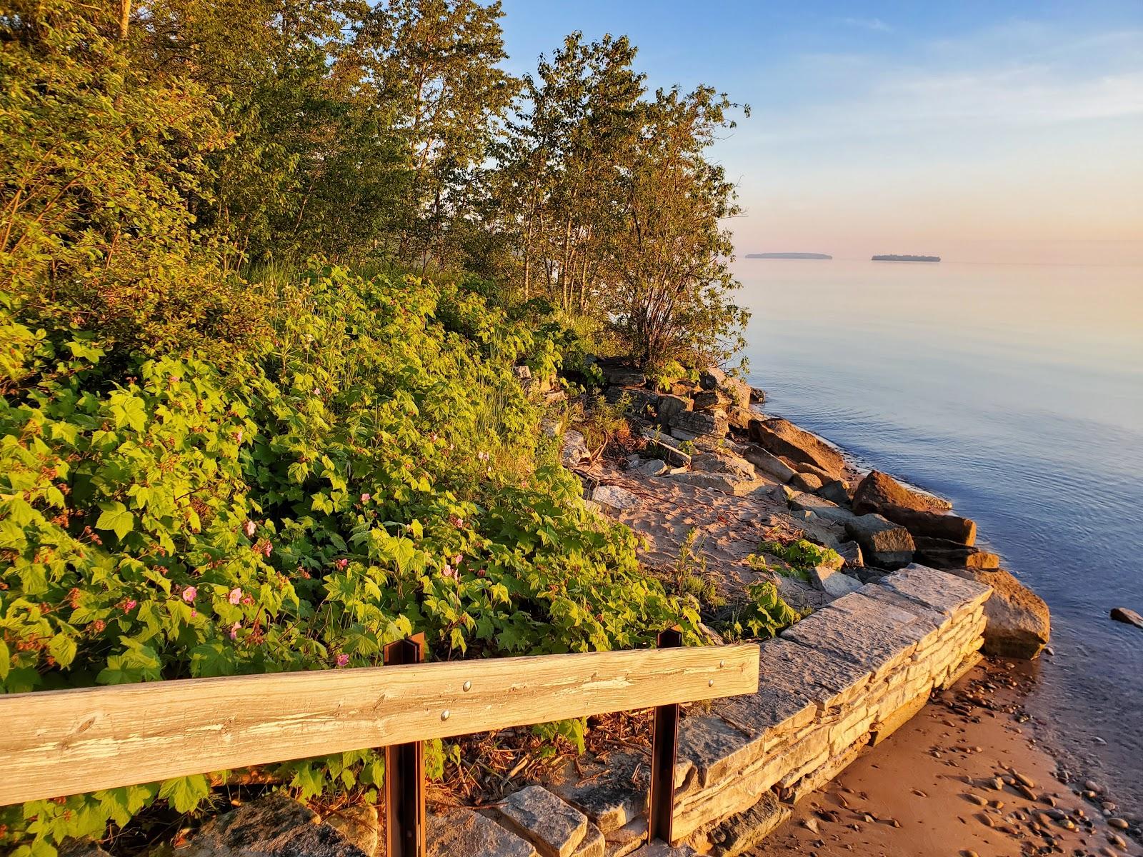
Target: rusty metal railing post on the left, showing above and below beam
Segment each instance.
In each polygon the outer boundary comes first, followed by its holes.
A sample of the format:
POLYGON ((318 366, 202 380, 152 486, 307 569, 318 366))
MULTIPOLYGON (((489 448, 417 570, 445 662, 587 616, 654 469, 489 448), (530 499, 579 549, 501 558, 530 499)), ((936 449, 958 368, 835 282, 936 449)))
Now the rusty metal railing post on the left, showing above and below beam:
MULTIPOLYGON (((385 666, 419 664, 425 635, 385 647, 385 666)), ((421 742, 385 747, 385 855, 425 857, 425 758, 421 742)))

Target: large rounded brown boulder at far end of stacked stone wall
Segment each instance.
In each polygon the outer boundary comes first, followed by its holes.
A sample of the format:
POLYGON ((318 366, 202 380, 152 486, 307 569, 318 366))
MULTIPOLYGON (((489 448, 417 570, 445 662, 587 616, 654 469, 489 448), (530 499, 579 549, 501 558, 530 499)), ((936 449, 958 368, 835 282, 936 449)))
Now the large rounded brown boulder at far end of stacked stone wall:
POLYGON ((1052 635, 1052 617, 1044 599, 1001 569, 953 568, 949 574, 992 587, 984 602, 984 651, 1031 660, 1052 635))

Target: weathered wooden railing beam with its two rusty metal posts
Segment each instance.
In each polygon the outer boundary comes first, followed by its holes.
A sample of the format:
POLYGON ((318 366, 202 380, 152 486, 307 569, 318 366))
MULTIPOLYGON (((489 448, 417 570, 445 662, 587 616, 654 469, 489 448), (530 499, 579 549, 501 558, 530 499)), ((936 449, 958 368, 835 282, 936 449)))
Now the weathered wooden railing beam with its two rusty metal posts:
POLYGON ((671 841, 679 703, 758 689, 754 644, 419 663, 0 695, 0 806, 386 747, 390 857, 424 854, 419 743, 654 707, 648 839, 671 841))

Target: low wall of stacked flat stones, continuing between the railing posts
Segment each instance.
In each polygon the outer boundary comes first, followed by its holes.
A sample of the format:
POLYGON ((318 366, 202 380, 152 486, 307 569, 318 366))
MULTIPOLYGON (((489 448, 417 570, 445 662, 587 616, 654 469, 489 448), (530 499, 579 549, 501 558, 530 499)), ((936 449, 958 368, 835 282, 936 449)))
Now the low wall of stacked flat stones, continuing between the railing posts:
MULTIPOLYGON (((761 644, 759 689, 682 720, 674 835, 716 855, 753 847, 820 788, 980 660, 988 586, 908 566, 761 644)), ((430 823, 430 852, 466 857, 642 855, 646 763, 507 798, 494 822, 430 823), (432 842, 433 830, 442 834, 432 842), (457 836, 464 832, 465 835, 457 836), (473 835, 477 834, 477 835, 473 835), (478 841, 487 836, 485 847, 478 841), (433 848, 435 844, 435 848, 433 848)), ((646 854, 652 854, 650 851, 646 854)), ((658 851, 654 851, 658 854, 658 851)), ((693 854, 685 847, 663 854, 693 854)))

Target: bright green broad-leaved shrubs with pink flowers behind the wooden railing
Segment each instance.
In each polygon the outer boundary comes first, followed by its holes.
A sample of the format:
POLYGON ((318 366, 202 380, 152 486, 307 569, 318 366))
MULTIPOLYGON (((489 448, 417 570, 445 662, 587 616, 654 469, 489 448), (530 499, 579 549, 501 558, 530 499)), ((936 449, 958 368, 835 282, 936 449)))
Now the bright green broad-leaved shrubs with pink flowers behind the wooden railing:
MULTIPOLYGON (((375 665, 414 631, 438 658, 632 648, 676 622, 697 640, 634 536, 536 448, 512 367, 554 363, 550 337, 470 291, 337 267, 264 299, 269 335, 224 366, 122 376, 93 334, 0 305, 2 690, 375 665)), ((369 791, 382 760, 278 774, 369 791)), ((211 782, 7 808, 3 844, 48 855, 211 782)))

